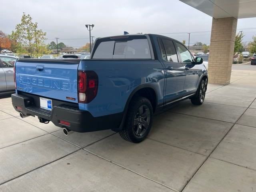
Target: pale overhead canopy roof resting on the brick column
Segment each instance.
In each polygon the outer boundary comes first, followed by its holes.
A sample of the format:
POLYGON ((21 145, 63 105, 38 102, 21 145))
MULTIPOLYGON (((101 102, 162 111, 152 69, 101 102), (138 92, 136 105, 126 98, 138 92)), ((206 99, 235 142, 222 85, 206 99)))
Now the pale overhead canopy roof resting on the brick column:
POLYGON ((256 0, 180 0, 214 18, 256 17, 256 0))

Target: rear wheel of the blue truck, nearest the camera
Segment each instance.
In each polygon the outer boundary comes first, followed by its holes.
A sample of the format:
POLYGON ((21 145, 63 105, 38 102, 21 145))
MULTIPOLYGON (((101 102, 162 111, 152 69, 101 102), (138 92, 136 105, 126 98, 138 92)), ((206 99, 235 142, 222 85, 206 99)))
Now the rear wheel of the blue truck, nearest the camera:
POLYGON ((145 97, 134 98, 130 102, 120 136, 130 142, 142 142, 150 131, 152 118, 153 108, 150 101, 145 97))

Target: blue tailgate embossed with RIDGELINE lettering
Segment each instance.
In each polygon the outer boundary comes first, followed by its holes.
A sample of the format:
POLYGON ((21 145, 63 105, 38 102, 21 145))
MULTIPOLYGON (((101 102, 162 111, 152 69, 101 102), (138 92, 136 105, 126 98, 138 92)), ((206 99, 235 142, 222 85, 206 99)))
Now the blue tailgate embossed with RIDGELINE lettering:
POLYGON ((78 103, 77 76, 80 60, 18 59, 17 91, 78 103))

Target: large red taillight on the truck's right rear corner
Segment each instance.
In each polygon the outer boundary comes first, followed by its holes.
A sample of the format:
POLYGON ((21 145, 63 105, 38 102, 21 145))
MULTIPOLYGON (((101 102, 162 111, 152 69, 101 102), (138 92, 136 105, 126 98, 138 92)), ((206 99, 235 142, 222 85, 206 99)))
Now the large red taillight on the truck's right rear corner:
POLYGON ((78 71, 78 102, 91 102, 97 92, 98 75, 94 71, 78 71))

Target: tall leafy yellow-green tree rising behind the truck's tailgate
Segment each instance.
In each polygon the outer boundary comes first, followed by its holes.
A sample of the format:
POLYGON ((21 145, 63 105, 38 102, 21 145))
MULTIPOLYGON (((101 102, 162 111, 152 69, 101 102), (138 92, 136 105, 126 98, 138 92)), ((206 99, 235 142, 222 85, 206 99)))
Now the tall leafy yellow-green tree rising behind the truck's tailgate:
POLYGON ((29 54, 31 57, 38 57, 49 52, 44 44, 46 32, 38 29, 38 23, 32 22, 30 14, 23 13, 20 24, 16 25, 10 37, 17 42, 18 54, 29 54))

